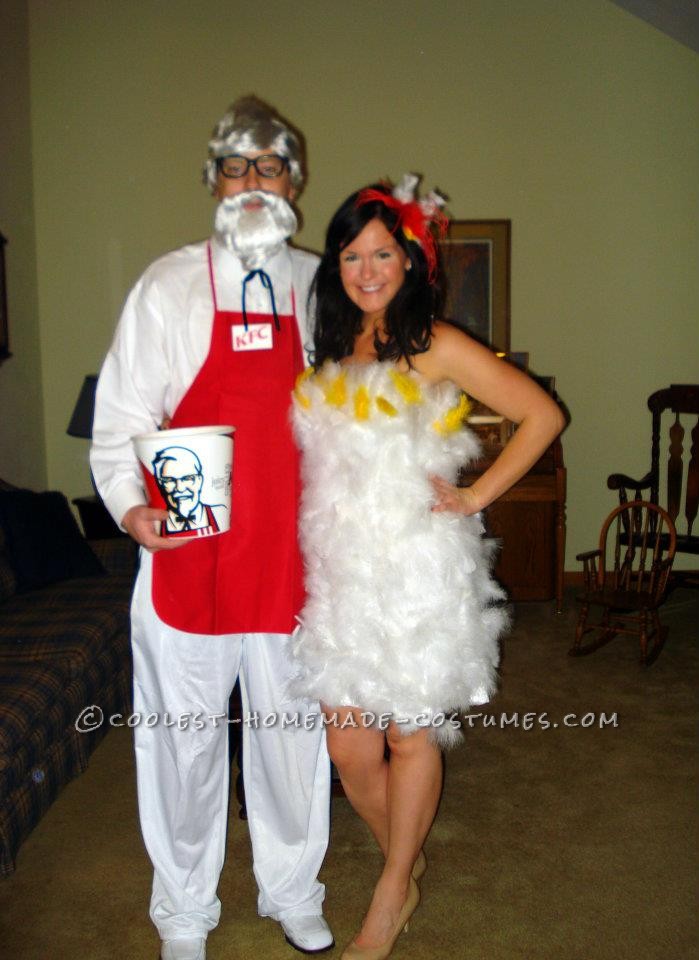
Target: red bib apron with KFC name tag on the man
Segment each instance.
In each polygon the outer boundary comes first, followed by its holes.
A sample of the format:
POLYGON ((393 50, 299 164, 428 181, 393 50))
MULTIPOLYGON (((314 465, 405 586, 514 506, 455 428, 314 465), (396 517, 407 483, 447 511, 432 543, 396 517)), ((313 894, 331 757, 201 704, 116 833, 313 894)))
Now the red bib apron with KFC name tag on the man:
POLYGON ((218 309, 210 248, 208 258, 209 354, 170 426, 235 426, 231 528, 155 553, 153 606, 188 633, 291 633, 303 605, 299 457, 289 420, 303 369, 293 290, 292 313, 279 316, 279 330, 268 314, 247 315, 251 335, 253 324, 269 325, 272 349, 234 350, 233 326, 243 325, 243 315, 218 309))

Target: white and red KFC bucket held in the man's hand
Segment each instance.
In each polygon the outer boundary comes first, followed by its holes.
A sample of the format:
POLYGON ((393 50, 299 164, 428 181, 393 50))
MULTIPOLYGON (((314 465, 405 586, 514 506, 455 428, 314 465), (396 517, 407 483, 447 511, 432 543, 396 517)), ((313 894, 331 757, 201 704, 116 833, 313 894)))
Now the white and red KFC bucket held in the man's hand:
POLYGON ((133 437, 151 507, 167 510, 162 537, 211 537, 231 525, 235 427, 182 427, 133 437))

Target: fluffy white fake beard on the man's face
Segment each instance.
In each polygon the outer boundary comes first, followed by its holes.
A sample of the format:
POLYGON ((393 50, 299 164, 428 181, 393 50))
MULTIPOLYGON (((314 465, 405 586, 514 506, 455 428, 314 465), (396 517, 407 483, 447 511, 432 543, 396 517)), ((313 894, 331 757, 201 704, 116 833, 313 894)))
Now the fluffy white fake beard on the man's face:
POLYGON ((296 233, 298 221, 289 202, 276 193, 250 190, 224 197, 216 207, 214 232, 221 243, 240 257, 247 270, 258 270, 296 233), (250 200, 263 206, 246 210, 250 200))

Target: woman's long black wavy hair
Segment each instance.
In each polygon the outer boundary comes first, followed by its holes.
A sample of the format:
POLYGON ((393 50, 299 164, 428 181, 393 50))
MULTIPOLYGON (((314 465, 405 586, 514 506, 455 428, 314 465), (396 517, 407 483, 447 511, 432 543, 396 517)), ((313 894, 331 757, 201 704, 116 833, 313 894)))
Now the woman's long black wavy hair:
MULTIPOLYGON (((373 184, 390 196, 385 184, 373 184)), ((398 215, 390 207, 374 200, 357 206, 360 191, 348 197, 335 213, 325 238, 325 252, 313 280, 310 297, 315 294, 315 327, 313 365, 316 369, 326 360, 342 360, 354 350, 354 341, 362 328, 362 311, 352 303, 340 279, 340 252, 359 236, 374 219, 380 220, 408 255, 412 269, 386 309, 385 339, 374 338, 379 360, 400 360, 410 364, 416 353, 424 353, 432 336, 432 323, 437 306, 437 288, 427 279, 427 261, 420 245, 408 240, 398 226, 398 215)))

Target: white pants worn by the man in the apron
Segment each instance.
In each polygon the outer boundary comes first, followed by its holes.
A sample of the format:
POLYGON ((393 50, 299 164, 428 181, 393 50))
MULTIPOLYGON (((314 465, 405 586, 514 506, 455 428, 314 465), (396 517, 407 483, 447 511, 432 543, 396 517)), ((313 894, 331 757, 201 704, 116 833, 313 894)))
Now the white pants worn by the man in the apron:
POLYGON ((259 717, 257 727, 243 723, 258 912, 275 920, 319 914, 330 762, 322 725, 304 727, 317 704, 285 694, 289 637, 209 637, 167 626, 151 601, 152 557, 142 553, 131 608, 134 710, 161 718, 167 713, 170 724, 142 721, 134 730, 141 830, 154 867, 151 919, 163 940, 206 936, 218 923, 228 813, 226 717, 238 675, 244 719, 259 717), (282 726, 282 713, 298 714, 298 724, 282 726), (209 719, 217 714, 223 718, 209 719), (274 714, 279 719, 270 724, 274 714), (188 720, 178 723, 185 715, 188 720))

